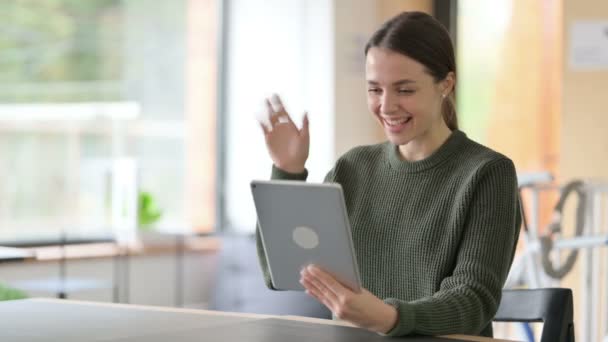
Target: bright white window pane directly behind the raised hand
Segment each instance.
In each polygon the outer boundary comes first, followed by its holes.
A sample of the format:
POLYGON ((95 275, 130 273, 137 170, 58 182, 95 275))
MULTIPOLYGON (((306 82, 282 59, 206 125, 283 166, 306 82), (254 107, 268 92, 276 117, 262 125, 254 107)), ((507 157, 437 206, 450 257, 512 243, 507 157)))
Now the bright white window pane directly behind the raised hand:
POLYGON ((252 179, 268 179, 272 161, 256 115, 278 93, 296 125, 310 114, 309 180, 333 164, 333 8, 324 1, 232 0, 225 50, 223 228, 255 229, 252 179))

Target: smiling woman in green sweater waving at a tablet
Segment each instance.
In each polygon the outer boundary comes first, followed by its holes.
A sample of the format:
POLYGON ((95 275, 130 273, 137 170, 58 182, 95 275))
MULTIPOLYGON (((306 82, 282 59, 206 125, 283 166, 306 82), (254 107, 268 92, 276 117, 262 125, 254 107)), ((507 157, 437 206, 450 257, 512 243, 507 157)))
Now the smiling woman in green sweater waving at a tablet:
MULTIPOLYGON (((513 163, 458 130, 454 51, 438 21, 402 13, 365 54, 368 107, 388 141, 350 150, 325 179, 343 188, 365 289, 314 265, 301 283, 336 317, 381 334, 492 336, 521 221, 513 163)), ((280 103, 267 106, 272 178, 305 180, 308 118, 298 129, 280 103)))

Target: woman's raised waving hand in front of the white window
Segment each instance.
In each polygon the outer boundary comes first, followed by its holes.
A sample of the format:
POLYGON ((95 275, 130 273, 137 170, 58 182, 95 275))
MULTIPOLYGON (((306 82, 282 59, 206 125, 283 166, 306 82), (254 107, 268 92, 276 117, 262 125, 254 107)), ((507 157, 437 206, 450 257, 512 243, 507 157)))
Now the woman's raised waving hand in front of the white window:
POLYGON ((298 129, 277 95, 266 99, 266 110, 271 127, 260 125, 274 165, 290 173, 303 172, 310 146, 308 114, 304 114, 302 128, 298 129))

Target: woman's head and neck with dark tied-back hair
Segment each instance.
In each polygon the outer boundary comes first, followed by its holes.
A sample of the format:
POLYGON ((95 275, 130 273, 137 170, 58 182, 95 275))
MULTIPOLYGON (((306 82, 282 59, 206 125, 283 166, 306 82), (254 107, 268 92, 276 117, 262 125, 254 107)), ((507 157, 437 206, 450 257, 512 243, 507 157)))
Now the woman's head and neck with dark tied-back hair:
POLYGON ((365 47, 365 73, 370 112, 389 140, 400 146, 402 157, 415 161, 428 157, 458 129, 453 104, 456 61, 442 26, 421 19, 420 25, 402 24, 407 20, 395 18, 392 26, 372 36, 365 47), (416 39, 420 30, 428 31, 428 44, 416 39))

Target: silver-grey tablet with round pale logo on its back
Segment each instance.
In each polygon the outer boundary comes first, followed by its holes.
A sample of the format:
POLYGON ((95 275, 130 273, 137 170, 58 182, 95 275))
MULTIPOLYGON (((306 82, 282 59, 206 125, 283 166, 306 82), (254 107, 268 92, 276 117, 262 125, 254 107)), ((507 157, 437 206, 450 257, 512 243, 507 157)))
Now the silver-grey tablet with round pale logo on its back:
POLYGON ((344 195, 339 184, 252 181, 272 284, 303 291, 300 270, 315 264, 354 291, 361 288, 344 195))

